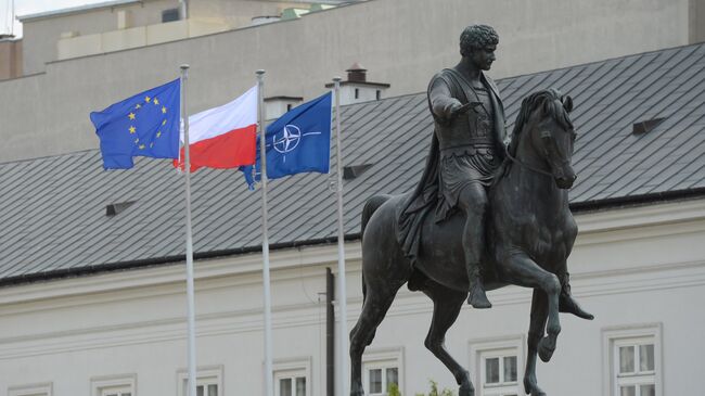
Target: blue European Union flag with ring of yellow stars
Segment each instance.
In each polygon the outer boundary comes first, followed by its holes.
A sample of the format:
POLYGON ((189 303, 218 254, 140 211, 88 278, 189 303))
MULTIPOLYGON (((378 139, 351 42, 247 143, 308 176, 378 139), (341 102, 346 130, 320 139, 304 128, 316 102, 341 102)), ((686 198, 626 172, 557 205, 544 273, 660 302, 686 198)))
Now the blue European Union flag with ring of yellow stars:
POLYGON ((163 86, 92 112, 105 169, 129 169, 132 157, 179 157, 181 81, 163 86))

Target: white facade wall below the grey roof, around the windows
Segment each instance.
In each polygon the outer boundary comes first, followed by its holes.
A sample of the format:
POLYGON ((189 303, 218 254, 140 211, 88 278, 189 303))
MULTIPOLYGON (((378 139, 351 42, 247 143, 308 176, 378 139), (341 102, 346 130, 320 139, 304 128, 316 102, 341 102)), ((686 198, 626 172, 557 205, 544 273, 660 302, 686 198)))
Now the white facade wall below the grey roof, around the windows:
MULTIPOLYGON (((562 315, 559 347, 540 363, 539 383, 552 395, 603 394, 602 331, 661 323, 663 395, 700 394, 705 355, 705 200, 586 213, 571 258, 574 294, 597 319, 562 315)), ((274 359, 312 361, 312 395, 325 389, 324 268, 335 246, 272 252, 274 359)), ((359 243, 346 246, 348 318, 361 305, 359 243)), ((198 366, 222 365, 226 395, 261 394, 260 256, 196 263, 198 366)), ((53 382, 54 395, 88 395, 89 380, 137 374, 136 396, 176 395, 185 367, 182 265, 0 289, 0 396, 9 386, 53 382)), ((525 336, 530 293, 490 292, 493 308, 464 307, 447 346, 465 367, 470 343, 525 336)), ((402 289, 370 350, 403 350, 406 395, 428 379, 456 388, 423 346, 431 302, 402 289)), ((347 354, 346 354, 347 355, 347 354)), ((471 368, 471 371, 475 370, 471 368)))

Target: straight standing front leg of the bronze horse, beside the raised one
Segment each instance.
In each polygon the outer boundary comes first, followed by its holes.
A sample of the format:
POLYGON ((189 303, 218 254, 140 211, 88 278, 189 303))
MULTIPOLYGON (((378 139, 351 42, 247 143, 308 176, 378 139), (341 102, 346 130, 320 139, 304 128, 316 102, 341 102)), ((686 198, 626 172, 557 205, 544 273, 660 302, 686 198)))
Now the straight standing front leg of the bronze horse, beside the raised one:
POLYGON ((526 357, 526 370, 524 371, 524 392, 531 396, 546 396, 536 380, 536 356, 538 355, 539 342, 543 337, 543 327, 548 317, 547 303, 546 293, 534 290, 531 321, 528 333, 528 355, 526 357))

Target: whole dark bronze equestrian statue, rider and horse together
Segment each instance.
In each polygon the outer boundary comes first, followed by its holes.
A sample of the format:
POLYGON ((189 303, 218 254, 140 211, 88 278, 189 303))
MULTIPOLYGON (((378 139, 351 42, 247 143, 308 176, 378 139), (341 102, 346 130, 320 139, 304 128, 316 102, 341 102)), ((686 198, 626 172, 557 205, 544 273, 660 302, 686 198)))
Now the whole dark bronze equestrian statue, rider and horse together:
POLYGON ((559 311, 592 319, 572 298, 566 267, 577 235, 567 199, 576 178, 573 101, 552 89, 524 99, 505 150, 502 103, 483 73, 497 43, 489 26, 463 31, 461 62, 434 76, 428 87, 435 131, 421 182, 411 193, 377 195, 366 204, 364 303, 350 332, 352 396, 363 395, 362 352, 407 282, 434 302, 425 345, 453 373, 460 396, 474 395, 473 385, 445 349, 444 337, 466 296, 474 307, 488 308, 485 288, 534 289, 524 376, 531 395, 544 395, 537 385, 536 356, 551 358, 561 331, 559 311))

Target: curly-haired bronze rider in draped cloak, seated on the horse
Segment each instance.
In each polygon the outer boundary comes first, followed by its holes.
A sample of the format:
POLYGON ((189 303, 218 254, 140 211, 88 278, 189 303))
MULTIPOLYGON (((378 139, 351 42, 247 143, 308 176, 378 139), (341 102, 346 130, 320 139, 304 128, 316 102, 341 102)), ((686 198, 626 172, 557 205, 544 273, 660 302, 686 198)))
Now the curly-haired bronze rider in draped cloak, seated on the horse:
MULTIPOLYGON (((480 276, 485 260, 487 191, 505 157, 504 108, 499 90, 483 71, 495 61, 499 37, 486 25, 466 27, 460 36, 462 59, 436 74, 428 85, 435 122, 431 153, 421 182, 399 214, 398 240, 405 254, 420 254, 422 219, 435 210, 440 222, 459 209, 465 217, 462 247, 470 281, 467 303, 489 308, 480 276)), ((561 310, 590 317, 571 295, 567 269, 561 281, 561 310)))

